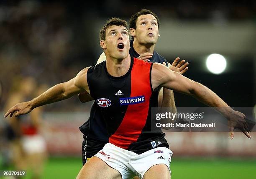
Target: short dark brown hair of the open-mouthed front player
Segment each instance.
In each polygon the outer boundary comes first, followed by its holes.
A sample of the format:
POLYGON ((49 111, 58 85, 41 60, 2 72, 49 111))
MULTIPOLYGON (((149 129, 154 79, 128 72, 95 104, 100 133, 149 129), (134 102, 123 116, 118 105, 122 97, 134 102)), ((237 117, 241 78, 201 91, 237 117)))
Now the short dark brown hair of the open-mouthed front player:
POLYGON ((128 30, 128 24, 125 20, 119 19, 117 17, 112 17, 107 21, 107 23, 100 30, 100 40, 105 40, 107 29, 113 25, 124 26, 128 30))

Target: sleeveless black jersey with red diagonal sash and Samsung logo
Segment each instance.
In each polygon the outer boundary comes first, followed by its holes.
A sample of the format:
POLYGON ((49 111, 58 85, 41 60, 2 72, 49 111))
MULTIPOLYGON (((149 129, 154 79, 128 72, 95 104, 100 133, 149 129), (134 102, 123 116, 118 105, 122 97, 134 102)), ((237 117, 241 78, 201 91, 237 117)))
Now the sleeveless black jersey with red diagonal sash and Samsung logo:
POLYGON ((152 63, 131 58, 128 72, 121 77, 108 74, 106 62, 90 67, 87 82, 115 146, 143 153, 158 147, 169 147, 161 129, 151 130, 151 107, 157 106, 157 95, 151 85, 152 63))

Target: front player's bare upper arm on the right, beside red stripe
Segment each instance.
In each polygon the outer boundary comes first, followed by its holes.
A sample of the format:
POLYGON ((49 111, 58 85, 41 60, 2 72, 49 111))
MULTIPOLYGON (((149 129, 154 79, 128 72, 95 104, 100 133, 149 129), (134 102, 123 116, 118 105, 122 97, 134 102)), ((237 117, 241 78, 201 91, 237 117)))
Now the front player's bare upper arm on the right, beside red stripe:
POLYGON ((152 67, 152 87, 164 87, 183 94, 191 94, 194 81, 170 70, 168 67, 154 63, 152 67))

